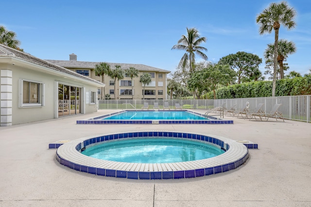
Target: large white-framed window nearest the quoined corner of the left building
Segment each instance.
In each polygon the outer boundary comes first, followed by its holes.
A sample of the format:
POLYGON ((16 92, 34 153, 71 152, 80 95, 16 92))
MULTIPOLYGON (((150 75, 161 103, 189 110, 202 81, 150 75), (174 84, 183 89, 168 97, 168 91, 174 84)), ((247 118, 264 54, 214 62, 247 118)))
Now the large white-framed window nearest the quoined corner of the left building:
POLYGON ((44 83, 20 80, 19 107, 44 106, 44 83))

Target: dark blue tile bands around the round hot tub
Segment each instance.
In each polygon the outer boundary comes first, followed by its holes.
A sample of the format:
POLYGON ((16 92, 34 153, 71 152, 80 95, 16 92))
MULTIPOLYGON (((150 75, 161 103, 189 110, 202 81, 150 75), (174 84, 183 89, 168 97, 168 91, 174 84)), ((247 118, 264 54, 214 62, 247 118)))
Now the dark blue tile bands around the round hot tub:
MULTIPOLYGON (((98 135, 96 137, 87 137, 87 138, 81 138, 76 141, 72 141, 69 143, 62 143, 60 144, 61 147, 59 147, 56 151, 56 160, 71 169, 94 174, 94 175, 102 175, 102 176, 110 176, 110 177, 120 177, 120 178, 128 178, 128 179, 181 179, 181 178, 192 178, 192 177, 200 177, 200 176, 206 176, 206 175, 213 175, 213 174, 219 174, 224 173, 233 169, 238 168, 241 166, 246 159, 248 159, 248 151, 247 149, 244 150, 245 154, 243 154, 242 157, 239 157, 236 160, 223 163, 220 165, 215 165, 211 167, 206 168, 198 168, 198 169, 185 169, 185 170, 175 170, 175 171, 155 171, 155 172, 144 172, 144 171, 126 171, 126 170, 118 170, 118 169, 111 169, 111 168, 103 168, 103 167, 96 167, 94 165, 92 166, 86 166, 84 164, 80 164, 78 161, 72 161, 69 158, 66 159, 62 157, 62 153, 59 152, 62 147, 66 149, 66 145, 69 144, 70 147, 74 147, 76 152, 79 155, 81 154, 81 151, 88 145, 94 145, 96 143, 102 143, 112 140, 118 140, 118 139, 141 139, 142 137, 167 137, 167 138, 178 138, 178 139, 191 139, 194 140, 194 142, 208 142, 215 145, 218 145, 219 148, 226 151, 221 156, 225 156, 225 154, 228 151, 234 151, 231 149, 231 145, 236 147, 236 144, 239 144, 239 147, 245 147, 245 148, 258 148, 258 144, 256 143, 237 143, 234 140, 230 140, 227 138, 220 138, 218 136, 212 135, 204 135, 204 134, 194 134, 194 133, 188 133, 188 132, 172 132, 172 131, 137 131, 137 132, 123 132, 123 133, 115 133, 115 134, 104 134, 104 135, 98 135), (231 142, 231 143, 230 143, 231 142), (233 144, 234 143, 234 144, 233 144), (231 145, 230 145, 231 144, 231 145)), ((49 144, 49 147, 56 147, 55 143, 49 144)), ((70 150, 65 150, 66 152, 70 150)), ((71 157, 71 156, 70 156, 71 157)), ((219 156, 217 156, 219 157, 219 156)), ((217 158, 215 157, 215 158, 217 158)), ((208 159, 206 159, 208 160, 208 159)), ((106 160, 103 160, 106 161, 106 160)), ((195 161, 194 161, 195 162, 195 161)))

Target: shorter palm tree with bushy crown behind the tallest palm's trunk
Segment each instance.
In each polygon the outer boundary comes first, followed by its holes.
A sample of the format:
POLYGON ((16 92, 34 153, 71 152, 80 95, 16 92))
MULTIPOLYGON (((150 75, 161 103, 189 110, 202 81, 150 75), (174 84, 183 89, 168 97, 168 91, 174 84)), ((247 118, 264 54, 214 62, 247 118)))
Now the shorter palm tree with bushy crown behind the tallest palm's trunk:
MULTIPOLYGON (((277 63, 280 68, 281 79, 284 79, 284 65, 283 62, 286 61, 288 55, 296 52, 296 46, 292 41, 287 41, 285 39, 280 39, 277 43, 277 63)), ((266 60, 274 58, 274 44, 268 44, 264 53, 264 58, 266 60)))

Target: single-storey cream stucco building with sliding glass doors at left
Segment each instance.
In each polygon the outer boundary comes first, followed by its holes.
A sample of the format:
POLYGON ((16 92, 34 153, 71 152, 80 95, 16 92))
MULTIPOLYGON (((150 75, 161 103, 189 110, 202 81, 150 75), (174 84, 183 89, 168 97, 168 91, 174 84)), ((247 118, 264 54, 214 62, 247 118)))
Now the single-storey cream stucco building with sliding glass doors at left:
POLYGON ((104 84, 0 44, 0 126, 97 111, 104 84))

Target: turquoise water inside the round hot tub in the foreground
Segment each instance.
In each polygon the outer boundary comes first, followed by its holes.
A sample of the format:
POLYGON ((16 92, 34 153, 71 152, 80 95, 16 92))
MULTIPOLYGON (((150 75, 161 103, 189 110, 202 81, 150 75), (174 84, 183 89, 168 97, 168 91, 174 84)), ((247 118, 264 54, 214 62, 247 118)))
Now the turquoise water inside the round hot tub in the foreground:
POLYGON ((185 162, 223 153, 223 150, 208 143, 158 137, 104 142, 82 152, 92 158, 131 163, 185 162))

